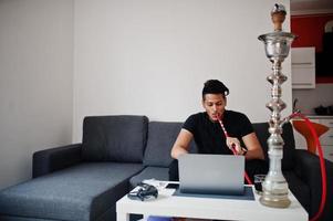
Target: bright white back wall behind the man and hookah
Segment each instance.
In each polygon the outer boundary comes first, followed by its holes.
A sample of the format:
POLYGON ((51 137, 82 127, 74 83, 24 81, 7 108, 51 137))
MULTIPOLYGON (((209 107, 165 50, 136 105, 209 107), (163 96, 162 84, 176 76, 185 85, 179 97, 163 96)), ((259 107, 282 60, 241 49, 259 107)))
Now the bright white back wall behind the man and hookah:
MULTIPOLYGON (((280 1, 289 11, 289 0, 280 1)), ((201 110, 204 82, 230 88, 228 107, 268 120, 271 64, 258 35, 274 0, 76 0, 73 139, 86 115, 185 120, 201 110)), ((284 22, 289 31, 289 18, 284 22)), ((283 63, 290 76, 290 59, 283 63)), ((291 113, 291 81, 283 85, 291 113)))

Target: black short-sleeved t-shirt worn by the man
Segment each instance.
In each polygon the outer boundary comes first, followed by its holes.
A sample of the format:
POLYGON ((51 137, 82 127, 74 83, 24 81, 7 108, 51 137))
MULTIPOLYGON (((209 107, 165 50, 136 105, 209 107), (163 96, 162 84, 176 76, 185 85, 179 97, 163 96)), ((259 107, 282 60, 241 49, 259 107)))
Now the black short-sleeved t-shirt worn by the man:
MULTIPOLYGON (((242 137, 253 133, 249 118, 241 113, 225 110, 223 125, 230 137, 237 137, 241 145, 242 137)), ((206 112, 189 116, 183 125, 194 135, 199 154, 232 155, 226 144, 226 136, 218 122, 211 122, 206 112)))

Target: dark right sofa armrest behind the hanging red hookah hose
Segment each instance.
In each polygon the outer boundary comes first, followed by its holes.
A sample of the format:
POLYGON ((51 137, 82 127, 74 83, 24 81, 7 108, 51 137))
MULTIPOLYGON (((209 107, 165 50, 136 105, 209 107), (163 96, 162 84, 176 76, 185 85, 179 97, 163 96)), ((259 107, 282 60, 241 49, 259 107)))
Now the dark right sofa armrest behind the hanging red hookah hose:
MULTIPOLYGON (((320 159, 316 155, 308 150, 296 149, 295 151, 295 172, 310 187, 311 206, 309 218, 312 218, 319 210, 322 196, 322 177, 320 159)), ((327 197, 323 211, 322 220, 333 220, 333 162, 325 159, 327 197)))

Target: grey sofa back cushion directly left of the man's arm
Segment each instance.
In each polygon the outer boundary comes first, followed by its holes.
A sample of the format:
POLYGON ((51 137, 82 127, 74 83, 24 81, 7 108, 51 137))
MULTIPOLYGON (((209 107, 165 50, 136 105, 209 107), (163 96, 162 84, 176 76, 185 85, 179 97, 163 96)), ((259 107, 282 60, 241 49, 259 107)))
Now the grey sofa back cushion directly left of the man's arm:
MULTIPOLYGON (((181 126, 183 123, 149 123, 148 140, 144 157, 145 166, 168 167, 171 164, 171 148, 177 139, 181 126)), ((196 145, 191 141, 190 152, 195 151, 196 145)))

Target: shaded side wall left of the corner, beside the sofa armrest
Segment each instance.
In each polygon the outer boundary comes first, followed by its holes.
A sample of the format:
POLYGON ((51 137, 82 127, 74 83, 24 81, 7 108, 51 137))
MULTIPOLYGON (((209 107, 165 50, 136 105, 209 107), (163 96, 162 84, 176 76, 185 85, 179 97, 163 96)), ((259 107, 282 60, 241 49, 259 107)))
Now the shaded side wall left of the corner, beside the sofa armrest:
POLYGON ((32 152, 70 144, 73 1, 0 1, 0 189, 31 178, 32 152))

